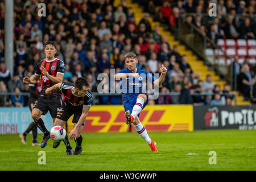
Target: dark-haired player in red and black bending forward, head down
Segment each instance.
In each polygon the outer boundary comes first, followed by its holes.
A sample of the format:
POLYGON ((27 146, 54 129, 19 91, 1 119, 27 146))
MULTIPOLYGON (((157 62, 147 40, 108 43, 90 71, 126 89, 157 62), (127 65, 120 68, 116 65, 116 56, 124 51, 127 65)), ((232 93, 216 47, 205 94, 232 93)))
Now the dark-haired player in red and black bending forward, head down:
MULTIPOLYGON (((46 89, 46 94, 51 94, 54 90, 61 90, 65 96, 65 101, 57 113, 54 125, 64 126, 69 117, 74 114, 73 123, 74 127, 69 137, 75 139, 76 149, 74 155, 81 154, 82 152, 82 128, 84 127, 86 116, 89 113, 90 106, 92 105, 92 93, 89 91, 89 83, 85 78, 77 78, 75 84, 71 82, 63 82, 46 89)), ((66 135, 66 140, 67 139, 66 135)), ((63 140, 64 141, 64 140, 63 140)), ((65 143, 65 141, 64 141, 65 143)), ((60 142, 54 142, 53 148, 57 148, 60 142)), ((67 154, 71 146, 67 146, 67 154)))

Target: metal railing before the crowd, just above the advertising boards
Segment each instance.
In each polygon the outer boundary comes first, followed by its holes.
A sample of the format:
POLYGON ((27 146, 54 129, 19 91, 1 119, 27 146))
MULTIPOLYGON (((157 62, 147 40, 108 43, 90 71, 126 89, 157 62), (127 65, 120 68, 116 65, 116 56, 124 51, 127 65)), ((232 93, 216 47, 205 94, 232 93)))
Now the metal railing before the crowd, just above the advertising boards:
MULTIPOLYGON (((120 96, 121 97, 121 101, 122 101, 122 94, 121 93, 97 93, 97 92, 93 92, 93 105, 98 105, 100 103, 99 101, 99 97, 102 96, 120 96)), ((0 96, 4 97, 4 107, 6 107, 6 100, 7 100, 7 96, 11 96, 11 95, 16 95, 16 93, 14 92, 6 92, 6 93, 0 93, 0 96)), ((28 92, 20 92, 19 93, 20 96, 29 96, 30 97, 30 93, 28 92)), ((180 93, 178 92, 170 92, 170 93, 159 93, 159 96, 172 96, 172 97, 179 97, 180 93)), ((213 96, 214 93, 207 93, 207 92, 201 92, 201 93, 192 93, 191 96, 213 96)), ((224 96, 232 96, 234 98, 234 104, 237 105, 237 96, 236 94, 233 93, 228 93, 228 94, 222 94, 224 96)), ((120 103, 121 104, 121 103, 120 103)), ((155 103, 155 104, 160 104, 160 103, 155 103)))

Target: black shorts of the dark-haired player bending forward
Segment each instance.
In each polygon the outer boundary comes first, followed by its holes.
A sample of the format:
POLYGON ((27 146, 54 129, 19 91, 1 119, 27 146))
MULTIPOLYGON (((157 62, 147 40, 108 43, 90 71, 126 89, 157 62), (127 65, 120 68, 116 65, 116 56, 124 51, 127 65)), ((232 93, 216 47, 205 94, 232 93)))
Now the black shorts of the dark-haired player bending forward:
MULTIPOLYGON (((73 123, 79 122, 79 118, 82 114, 82 107, 81 108, 72 108, 68 105, 62 105, 57 113, 58 119, 61 119, 65 122, 68 121, 68 119, 74 114, 73 117, 73 123)), ((82 126, 84 126, 84 123, 82 123, 82 126)))

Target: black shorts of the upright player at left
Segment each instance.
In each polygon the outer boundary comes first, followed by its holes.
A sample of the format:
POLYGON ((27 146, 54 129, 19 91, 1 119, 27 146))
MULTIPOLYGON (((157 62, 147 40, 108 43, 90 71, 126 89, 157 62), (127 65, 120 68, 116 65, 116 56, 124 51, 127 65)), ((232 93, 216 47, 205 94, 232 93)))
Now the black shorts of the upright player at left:
POLYGON ((51 117, 56 118, 57 111, 59 111, 61 105, 62 105, 62 101, 60 97, 55 97, 55 98, 40 97, 38 98, 38 100, 35 101, 33 109, 36 108, 36 109, 39 109, 40 111, 43 111, 43 115, 49 111, 49 113, 51 114, 51 117))

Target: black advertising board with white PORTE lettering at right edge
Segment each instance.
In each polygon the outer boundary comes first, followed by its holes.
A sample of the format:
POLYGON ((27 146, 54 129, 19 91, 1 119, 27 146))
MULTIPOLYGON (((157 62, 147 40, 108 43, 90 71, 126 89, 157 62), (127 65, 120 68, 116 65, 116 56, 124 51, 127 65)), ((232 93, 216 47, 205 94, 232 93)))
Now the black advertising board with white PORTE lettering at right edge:
POLYGON ((256 130, 256 106, 193 106, 194 130, 256 130))

